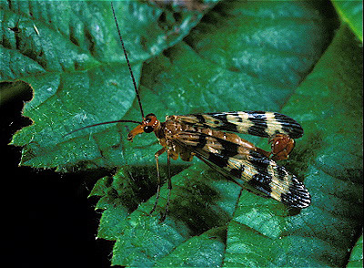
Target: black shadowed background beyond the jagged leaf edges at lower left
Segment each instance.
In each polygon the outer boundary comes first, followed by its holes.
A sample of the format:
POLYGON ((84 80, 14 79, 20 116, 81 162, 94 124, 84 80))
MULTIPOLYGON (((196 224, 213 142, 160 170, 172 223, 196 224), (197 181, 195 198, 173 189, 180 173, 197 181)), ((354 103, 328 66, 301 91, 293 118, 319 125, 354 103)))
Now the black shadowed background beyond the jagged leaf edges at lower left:
POLYGON ((0 263, 5 261, 3 267, 110 267, 114 242, 96 240, 101 211, 95 211, 96 198, 87 199, 95 176, 19 167, 21 148, 8 145, 16 130, 31 124, 21 116, 24 101, 31 97, 28 89, 0 106, 0 263))

